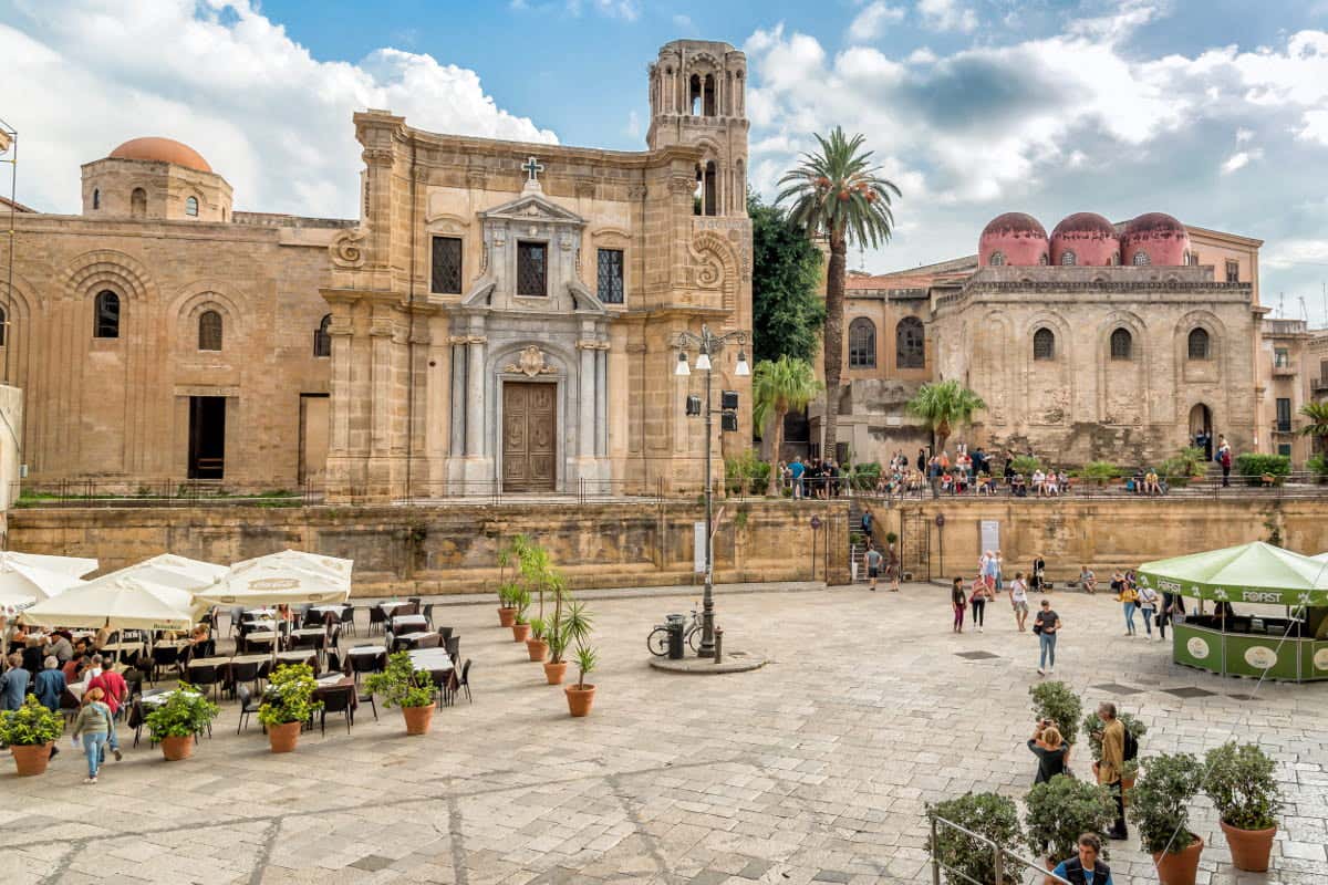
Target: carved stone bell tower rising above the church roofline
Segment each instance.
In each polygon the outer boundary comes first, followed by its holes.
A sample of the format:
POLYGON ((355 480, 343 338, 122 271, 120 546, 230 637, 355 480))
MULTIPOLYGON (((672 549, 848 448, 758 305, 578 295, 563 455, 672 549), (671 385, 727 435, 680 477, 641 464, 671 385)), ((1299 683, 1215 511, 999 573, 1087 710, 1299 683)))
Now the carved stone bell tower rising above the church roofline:
POLYGON ((746 56, 714 40, 675 40, 651 65, 651 150, 691 145, 696 214, 746 216, 746 56))

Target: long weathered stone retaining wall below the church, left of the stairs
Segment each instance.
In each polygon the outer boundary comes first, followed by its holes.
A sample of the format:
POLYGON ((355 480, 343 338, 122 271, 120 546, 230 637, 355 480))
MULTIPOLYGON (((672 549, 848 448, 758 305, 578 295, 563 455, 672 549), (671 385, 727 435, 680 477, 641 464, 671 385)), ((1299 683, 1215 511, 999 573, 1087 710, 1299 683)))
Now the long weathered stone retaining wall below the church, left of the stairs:
MULTIPOLYGON (((718 502, 717 582, 849 579, 847 502, 718 502), (819 516, 815 575, 810 520, 819 516), (826 535, 830 535, 826 555, 826 535)), ((700 584, 692 569, 693 502, 456 507, 33 508, 11 515, 9 547, 96 556, 101 573, 170 551, 214 563, 283 548, 356 561, 355 593, 491 589, 497 552, 525 532, 572 586, 700 584)))

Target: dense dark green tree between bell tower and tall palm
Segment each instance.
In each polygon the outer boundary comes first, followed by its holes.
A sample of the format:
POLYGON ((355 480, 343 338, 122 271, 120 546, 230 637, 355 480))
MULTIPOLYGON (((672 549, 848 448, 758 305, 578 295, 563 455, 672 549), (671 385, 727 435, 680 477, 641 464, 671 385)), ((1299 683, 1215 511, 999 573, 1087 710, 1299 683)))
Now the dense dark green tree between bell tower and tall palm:
POLYGON ((810 362, 821 346, 826 305, 817 293, 821 249, 776 206, 748 195, 752 216, 753 358, 810 362))

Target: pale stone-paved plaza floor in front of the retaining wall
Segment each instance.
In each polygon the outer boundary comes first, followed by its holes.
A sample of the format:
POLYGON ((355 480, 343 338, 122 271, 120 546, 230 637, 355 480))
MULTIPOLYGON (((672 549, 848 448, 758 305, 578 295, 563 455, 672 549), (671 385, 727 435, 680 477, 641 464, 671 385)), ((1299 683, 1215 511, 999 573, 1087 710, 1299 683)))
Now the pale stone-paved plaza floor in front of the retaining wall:
MULTIPOLYGON (((428 736, 406 738, 397 711, 376 723, 361 709, 351 735, 336 718, 325 738, 305 734, 293 755, 274 756, 256 722, 236 736, 224 702, 189 762, 163 763, 145 736, 96 787, 68 750, 40 779, 7 763, 0 881, 930 881, 928 801, 1021 797, 1032 783, 1035 637, 1001 604, 985 634, 952 636, 939 586, 770 589, 720 596, 726 644, 772 658, 725 677, 647 665, 645 633, 693 597, 592 601, 603 669, 584 720, 567 716, 562 690, 485 602, 436 610, 474 659, 474 703, 440 710, 428 736), (960 655, 976 651, 995 657, 960 655)), ((1279 760, 1288 804, 1275 869, 1238 878, 1199 800, 1201 881, 1325 881, 1328 685, 1264 683, 1247 699, 1252 682, 1177 667, 1163 645, 1123 638, 1104 596, 1057 593, 1054 605, 1057 678, 1085 703, 1113 698, 1139 715, 1142 755, 1255 738, 1279 760), (1094 687, 1113 683, 1137 694, 1094 687), (1169 691, 1181 687, 1211 694, 1169 691)), ((1074 768, 1085 776, 1089 763, 1081 751, 1074 768)), ((1117 882, 1155 881, 1134 841, 1113 844, 1112 866, 1117 882)))

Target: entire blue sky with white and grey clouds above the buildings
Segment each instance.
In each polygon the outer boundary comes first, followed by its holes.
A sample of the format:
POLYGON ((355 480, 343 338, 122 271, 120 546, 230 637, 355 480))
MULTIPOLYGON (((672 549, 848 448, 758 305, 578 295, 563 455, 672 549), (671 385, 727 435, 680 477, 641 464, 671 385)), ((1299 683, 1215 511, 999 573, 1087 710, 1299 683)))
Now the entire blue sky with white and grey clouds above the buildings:
POLYGON ((746 52, 766 198, 814 133, 866 137, 903 196, 853 268, 969 255, 1005 211, 1163 211, 1263 239, 1263 303, 1328 321, 1328 0, 0 0, 0 118, 42 211, 166 135, 238 208, 355 216, 355 110, 639 150, 680 37, 746 52))

